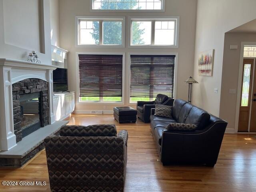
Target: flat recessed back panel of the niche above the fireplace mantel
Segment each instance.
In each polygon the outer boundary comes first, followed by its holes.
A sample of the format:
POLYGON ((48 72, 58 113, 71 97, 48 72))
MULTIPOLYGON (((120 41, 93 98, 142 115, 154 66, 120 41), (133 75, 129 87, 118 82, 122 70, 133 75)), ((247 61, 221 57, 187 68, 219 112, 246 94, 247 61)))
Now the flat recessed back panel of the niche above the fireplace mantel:
POLYGON ((6 44, 40 52, 39 0, 4 0, 4 34, 6 44), (24 12, 24 10, 30 10, 24 12), (22 15, 22 20, 17 15, 22 15))

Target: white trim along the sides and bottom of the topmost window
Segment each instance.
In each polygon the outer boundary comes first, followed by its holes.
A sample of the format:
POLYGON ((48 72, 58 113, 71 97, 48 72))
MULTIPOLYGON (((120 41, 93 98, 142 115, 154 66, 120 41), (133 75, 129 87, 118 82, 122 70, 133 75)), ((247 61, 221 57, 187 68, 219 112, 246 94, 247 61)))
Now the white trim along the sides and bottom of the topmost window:
POLYGON ((142 10, 92 9, 92 0, 90 0, 90 12, 165 12, 165 0, 163 0, 162 2, 162 9, 142 9, 142 10))

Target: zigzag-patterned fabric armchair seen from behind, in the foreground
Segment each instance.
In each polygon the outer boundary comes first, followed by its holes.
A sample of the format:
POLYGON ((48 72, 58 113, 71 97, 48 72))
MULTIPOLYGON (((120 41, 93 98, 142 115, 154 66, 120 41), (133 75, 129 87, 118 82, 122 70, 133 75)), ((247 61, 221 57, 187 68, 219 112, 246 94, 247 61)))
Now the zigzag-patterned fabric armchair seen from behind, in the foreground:
POLYGON ((122 192, 127 141, 114 125, 62 126, 44 139, 51 190, 122 192))

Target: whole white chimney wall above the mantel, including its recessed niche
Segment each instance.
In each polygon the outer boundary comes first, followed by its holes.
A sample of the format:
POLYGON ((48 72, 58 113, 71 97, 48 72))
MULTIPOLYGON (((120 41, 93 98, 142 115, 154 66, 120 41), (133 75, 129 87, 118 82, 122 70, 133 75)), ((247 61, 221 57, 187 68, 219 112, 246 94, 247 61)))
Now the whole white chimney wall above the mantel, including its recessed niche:
POLYGON ((51 64, 50 0, 0 0, 0 58, 51 64))

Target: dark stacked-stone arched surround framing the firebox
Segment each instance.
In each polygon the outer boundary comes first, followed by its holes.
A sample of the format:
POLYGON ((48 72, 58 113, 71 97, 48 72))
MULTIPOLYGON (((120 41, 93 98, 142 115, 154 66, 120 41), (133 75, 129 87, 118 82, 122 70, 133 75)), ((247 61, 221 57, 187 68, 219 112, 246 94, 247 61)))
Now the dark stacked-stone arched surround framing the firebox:
POLYGON ((30 78, 21 80, 20 82, 12 84, 12 103, 13 103, 13 121, 14 121, 14 134, 16 135, 16 142, 22 140, 21 121, 22 116, 20 114, 20 95, 40 92, 40 108, 41 108, 41 125, 46 126, 49 124, 48 117, 48 82, 38 79, 30 78))

